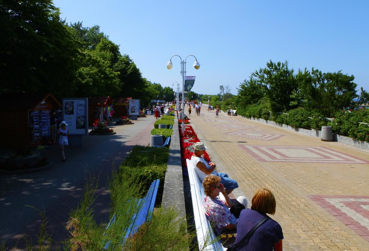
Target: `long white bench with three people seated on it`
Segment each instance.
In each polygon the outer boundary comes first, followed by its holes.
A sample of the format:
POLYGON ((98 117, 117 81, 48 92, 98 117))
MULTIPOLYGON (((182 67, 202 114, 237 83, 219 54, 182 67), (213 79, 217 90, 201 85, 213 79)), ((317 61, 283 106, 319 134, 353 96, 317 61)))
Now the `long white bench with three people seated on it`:
MULTIPOLYGON (((202 182, 200 182, 199 177, 197 176, 194 167, 191 165, 191 161, 186 159, 188 176, 190 179, 191 186, 191 196, 192 196, 192 207, 193 207, 193 215, 196 226, 197 233, 197 241, 199 243, 199 250, 227 250, 222 246, 220 240, 214 241, 217 237, 213 231, 213 228, 210 226, 209 220, 206 218, 203 203, 204 203, 204 187, 202 182), (210 241, 208 241, 208 245, 204 247, 204 238, 210 237, 210 241), (203 248, 203 249, 202 249, 203 248)), ((222 195, 223 196, 223 195, 222 195)), ((224 197, 221 198, 224 200, 224 197)))

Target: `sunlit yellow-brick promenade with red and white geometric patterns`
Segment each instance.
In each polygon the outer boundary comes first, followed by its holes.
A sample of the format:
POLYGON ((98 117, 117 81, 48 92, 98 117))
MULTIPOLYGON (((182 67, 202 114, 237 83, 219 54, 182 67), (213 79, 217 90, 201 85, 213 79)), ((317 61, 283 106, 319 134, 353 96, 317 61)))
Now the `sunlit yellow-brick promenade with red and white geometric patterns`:
POLYGON ((369 250, 369 152, 204 110, 191 125, 250 200, 269 188, 284 250, 369 250))

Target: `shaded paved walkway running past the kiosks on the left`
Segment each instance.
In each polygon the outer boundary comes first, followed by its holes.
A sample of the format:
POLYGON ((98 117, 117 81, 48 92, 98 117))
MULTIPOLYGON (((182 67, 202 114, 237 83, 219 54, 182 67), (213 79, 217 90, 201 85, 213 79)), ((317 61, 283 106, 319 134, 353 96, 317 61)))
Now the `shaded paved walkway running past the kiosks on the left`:
MULTIPOLYGON (((154 116, 138 118, 133 125, 110 126, 115 135, 86 136, 82 147, 68 147, 66 161, 61 161, 59 145, 41 151, 55 165, 46 171, 25 175, 0 175, 0 237, 9 250, 22 250, 22 236, 38 234, 41 217, 36 209, 45 209, 47 229, 56 241, 65 240, 64 226, 69 212, 81 199, 85 178, 90 174, 99 177, 95 202, 97 223, 109 219, 110 197, 108 176, 113 166, 119 166, 134 145, 147 146, 154 116), (15 243, 19 240, 17 247, 15 243)), ((0 243, 1 244, 1 243, 0 243)), ((35 244, 35 241, 34 241, 35 244)))

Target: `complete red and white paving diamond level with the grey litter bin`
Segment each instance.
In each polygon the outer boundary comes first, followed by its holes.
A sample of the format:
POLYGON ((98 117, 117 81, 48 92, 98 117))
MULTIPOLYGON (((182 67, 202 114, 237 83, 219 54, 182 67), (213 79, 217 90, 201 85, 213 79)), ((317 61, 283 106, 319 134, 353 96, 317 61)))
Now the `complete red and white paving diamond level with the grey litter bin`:
POLYGON ((261 162, 314 162, 338 164, 368 164, 365 159, 356 158, 327 147, 239 145, 261 162))

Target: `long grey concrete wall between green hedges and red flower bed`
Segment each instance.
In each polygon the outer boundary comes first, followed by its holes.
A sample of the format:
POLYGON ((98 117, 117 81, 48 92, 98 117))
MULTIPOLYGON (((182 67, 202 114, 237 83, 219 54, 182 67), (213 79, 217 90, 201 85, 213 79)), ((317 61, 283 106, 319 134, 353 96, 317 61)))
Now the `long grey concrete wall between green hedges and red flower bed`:
POLYGON ((175 119, 173 134, 170 139, 169 160, 165 173, 162 206, 175 207, 179 212, 179 217, 186 219, 180 151, 178 120, 175 119))

